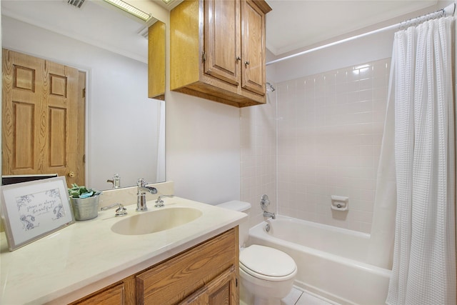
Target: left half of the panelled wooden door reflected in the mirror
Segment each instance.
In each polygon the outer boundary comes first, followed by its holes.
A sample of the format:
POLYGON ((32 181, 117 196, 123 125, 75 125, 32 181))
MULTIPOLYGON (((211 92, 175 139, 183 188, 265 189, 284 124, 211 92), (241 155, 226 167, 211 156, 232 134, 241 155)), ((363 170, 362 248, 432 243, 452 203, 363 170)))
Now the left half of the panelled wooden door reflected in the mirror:
POLYGON ((44 61, 4 50, 2 60, 3 174, 33 174, 41 165, 40 132, 44 61))

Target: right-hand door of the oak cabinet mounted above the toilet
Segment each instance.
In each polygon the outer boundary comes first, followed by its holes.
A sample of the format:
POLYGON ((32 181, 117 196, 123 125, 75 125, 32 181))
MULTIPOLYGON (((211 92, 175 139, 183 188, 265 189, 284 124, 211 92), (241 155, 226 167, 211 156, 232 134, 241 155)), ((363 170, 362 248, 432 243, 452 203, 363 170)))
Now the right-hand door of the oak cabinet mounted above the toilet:
POLYGON ((243 89, 265 95, 265 14, 251 0, 241 0, 243 89))

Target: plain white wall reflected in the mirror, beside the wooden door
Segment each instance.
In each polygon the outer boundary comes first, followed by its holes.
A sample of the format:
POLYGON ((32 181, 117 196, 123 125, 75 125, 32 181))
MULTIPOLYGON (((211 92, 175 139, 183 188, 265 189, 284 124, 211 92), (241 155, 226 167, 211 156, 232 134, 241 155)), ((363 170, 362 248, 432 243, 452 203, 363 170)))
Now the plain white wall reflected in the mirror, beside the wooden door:
POLYGON ((106 180, 115 173, 121 186, 140 177, 155 181, 157 147, 151 138, 158 133, 160 102, 147 98, 147 64, 6 16, 1 30, 6 49, 88 72, 88 186, 110 189, 106 180))

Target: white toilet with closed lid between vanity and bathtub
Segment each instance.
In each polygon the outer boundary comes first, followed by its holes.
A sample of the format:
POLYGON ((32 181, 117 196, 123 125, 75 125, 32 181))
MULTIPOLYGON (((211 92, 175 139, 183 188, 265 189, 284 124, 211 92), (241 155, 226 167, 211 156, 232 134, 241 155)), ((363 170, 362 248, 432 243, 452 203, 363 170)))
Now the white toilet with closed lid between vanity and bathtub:
MULTIPOLYGON (((251 204, 229 201, 218 206, 248 214, 251 204)), ((253 244, 246 248, 249 221, 239 226, 240 239, 240 303, 246 305, 281 304, 291 291, 297 274, 295 261, 288 254, 268 246, 253 244)))

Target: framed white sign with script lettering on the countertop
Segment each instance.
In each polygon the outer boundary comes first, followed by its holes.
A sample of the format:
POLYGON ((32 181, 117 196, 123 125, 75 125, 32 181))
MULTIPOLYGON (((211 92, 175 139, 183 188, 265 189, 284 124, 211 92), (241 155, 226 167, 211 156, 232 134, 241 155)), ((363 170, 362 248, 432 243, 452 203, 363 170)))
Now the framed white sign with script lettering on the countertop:
POLYGON ((9 251, 74 223, 65 177, 1 186, 9 251))

